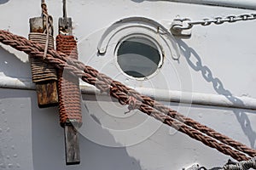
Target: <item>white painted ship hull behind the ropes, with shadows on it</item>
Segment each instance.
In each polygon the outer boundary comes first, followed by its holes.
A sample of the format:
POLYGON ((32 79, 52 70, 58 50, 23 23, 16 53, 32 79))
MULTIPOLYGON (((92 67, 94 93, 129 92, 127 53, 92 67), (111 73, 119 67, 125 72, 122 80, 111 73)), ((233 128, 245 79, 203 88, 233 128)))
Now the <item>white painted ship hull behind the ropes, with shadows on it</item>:
MULTIPOLYGON (((219 2, 224 5, 228 1, 219 2)), ((105 54, 97 55, 104 31, 118 20, 143 17, 168 29, 177 15, 201 20, 253 13, 246 8, 255 8, 252 1, 235 3, 242 8, 171 1, 79 0, 67 1, 67 14, 73 18, 73 33, 78 37, 79 60, 255 149, 255 21, 195 26, 189 39, 173 39, 180 52, 170 52, 163 45, 164 64, 144 81, 120 71, 113 53, 118 38, 111 40, 105 54), (181 54, 179 61, 172 59, 173 53, 181 54)), ((47 4, 57 32, 61 1, 47 4)), ((27 37, 29 18, 39 14, 39 1, 0 0, 0 29, 27 37)), ((230 159, 139 111, 125 114, 127 107, 81 82, 81 164, 66 166, 57 107, 38 108, 26 54, 2 44, 0 86, 0 169, 181 170, 195 163, 219 167, 230 159)))

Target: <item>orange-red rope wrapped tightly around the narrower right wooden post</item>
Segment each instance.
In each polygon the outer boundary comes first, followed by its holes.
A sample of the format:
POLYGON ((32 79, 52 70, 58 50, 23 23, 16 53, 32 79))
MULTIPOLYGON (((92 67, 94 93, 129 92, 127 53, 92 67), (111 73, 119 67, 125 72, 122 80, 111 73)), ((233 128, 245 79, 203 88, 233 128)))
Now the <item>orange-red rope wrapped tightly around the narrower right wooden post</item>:
MULTIPOLYGON (((56 50, 67 54, 69 58, 78 59, 77 42, 73 36, 57 36, 56 50)), ((80 127, 82 125, 82 111, 79 79, 65 72, 63 73, 63 70, 59 70, 58 91, 61 126, 63 127, 66 123, 72 122, 73 125, 80 127)))

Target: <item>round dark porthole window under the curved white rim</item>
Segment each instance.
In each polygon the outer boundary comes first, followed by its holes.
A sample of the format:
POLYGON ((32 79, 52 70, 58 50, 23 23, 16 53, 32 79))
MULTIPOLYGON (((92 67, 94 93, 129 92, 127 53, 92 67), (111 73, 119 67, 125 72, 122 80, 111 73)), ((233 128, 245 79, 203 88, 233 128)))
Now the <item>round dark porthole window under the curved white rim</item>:
POLYGON ((159 68, 160 48, 145 37, 131 37, 119 44, 117 62, 125 74, 143 78, 152 75, 159 68))

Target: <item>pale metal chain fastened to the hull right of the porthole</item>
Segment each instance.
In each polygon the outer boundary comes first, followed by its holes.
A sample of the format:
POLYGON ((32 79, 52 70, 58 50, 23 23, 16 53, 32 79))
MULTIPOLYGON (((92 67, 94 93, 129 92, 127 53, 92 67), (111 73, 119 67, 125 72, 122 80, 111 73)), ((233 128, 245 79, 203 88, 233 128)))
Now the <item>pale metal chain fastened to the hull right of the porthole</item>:
POLYGON ((213 19, 203 19, 203 20, 190 20, 189 18, 185 19, 175 19, 176 21, 179 20, 183 23, 183 26, 172 26, 172 29, 174 30, 188 30, 196 25, 201 26, 210 26, 211 24, 215 25, 221 25, 224 23, 234 23, 236 21, 241 20, 256 20, 256 13, 253 14, 231 14, 225 17, 217 16, 213 19))

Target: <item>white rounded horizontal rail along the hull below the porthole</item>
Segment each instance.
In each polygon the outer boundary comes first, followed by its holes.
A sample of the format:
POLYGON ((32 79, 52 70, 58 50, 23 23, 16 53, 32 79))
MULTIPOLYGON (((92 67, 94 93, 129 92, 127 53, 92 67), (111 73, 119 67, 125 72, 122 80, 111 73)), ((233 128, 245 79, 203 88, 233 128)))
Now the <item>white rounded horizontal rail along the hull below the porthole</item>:
MULTIPOLYGON (((0 77, 0 88, 11 88, 20 90, 35 90, 35 84, 31 79, 18 79, 11 77, 0 77)), ((80 85, 82 94, 92 95, 108 95, 101 94, 94 86, 80 85)), ((212 105, 220 107, 233 107, 240 109, 256 110, 256 99, 249 97, 232 96, 240 102, 230 101, 230 97, 220 94, 200 94, 200 93, 183 93, 181 91, 162 90, 154 88, 136 88, 136 90, 143 94, 153 97, 156 100, 163 102, 178 102, 180 104, 195 104, 195 105, 212 105)))

